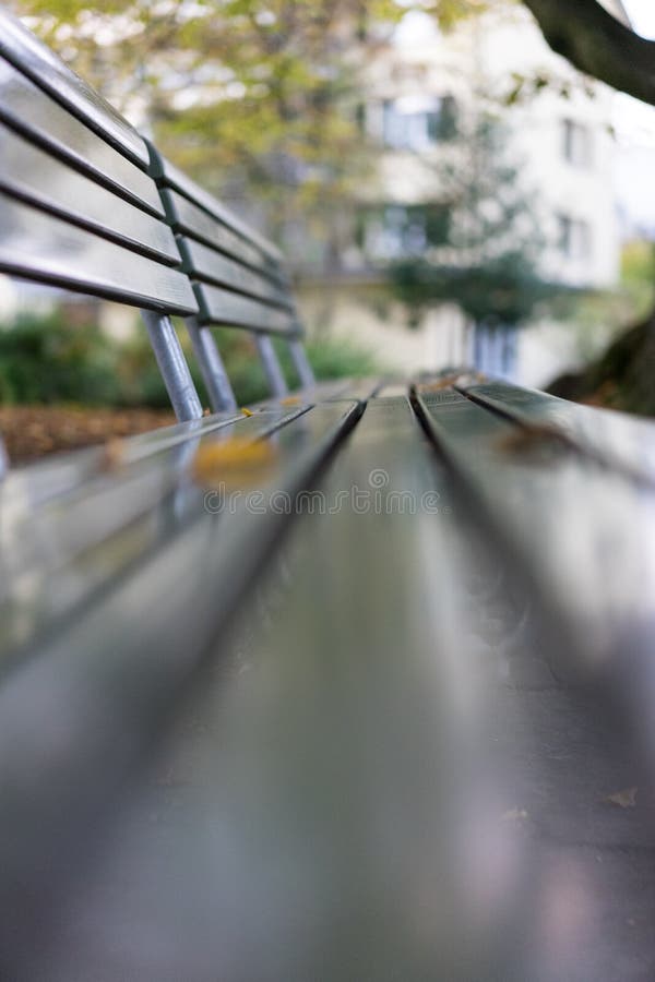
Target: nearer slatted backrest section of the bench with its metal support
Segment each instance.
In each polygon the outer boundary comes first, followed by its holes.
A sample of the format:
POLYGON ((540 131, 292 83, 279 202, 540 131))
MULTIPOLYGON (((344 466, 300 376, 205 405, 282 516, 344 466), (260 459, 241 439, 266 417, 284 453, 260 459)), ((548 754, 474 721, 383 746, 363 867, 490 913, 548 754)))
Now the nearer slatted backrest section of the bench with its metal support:
POLYGON ((144 311, 180 419, 202 415, 170 314, 198 311, 148 149, 0 11, 0 271, 144 311))

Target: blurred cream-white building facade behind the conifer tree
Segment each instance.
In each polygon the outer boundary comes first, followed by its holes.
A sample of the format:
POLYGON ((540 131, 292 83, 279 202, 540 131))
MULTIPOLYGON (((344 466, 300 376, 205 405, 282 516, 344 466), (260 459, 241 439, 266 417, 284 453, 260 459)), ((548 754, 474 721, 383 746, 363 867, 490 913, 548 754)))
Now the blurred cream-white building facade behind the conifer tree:
MULTIPOLYGON (((624 19, 619 3, 606 5, 624 19)), ((325 276, 301 285, 310 330, 358 339, 402 371, 475 357, 455 307, 408 323, 410 313, 384 286, 384 265, 430 247, 439 221, 438 208, 429 207, 439 200, 434 161, 449 152, 449 128, 480 103, 502 118, 508 155, 534 200, 544 276, 575 287, 616 286, 614 93, 555 55, 522 4, 498 3, 448 35, 427 14, 409 13, 367 80, 362 119, 380 146, 378 175, 362 193, 342 267, 330 273, 334 290, 325 291, 325 276)), ((558 330, 541 325, 519 335, 513 371, 521 381, 543 384, 565 362, 565 345, 552 357, 548 350, 548 333, 556 338, 558 330)), ((497 355, 488 370, 500 369, 497 355)))

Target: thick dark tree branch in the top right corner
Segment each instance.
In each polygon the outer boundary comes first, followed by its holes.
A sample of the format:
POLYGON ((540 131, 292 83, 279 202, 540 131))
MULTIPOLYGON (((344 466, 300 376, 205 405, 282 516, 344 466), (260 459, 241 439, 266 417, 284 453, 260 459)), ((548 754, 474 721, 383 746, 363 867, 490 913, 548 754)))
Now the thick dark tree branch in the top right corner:
POLYGON ((596 0, 523 0, 553 51, 644 103, 655 105, 655 41, 645 40, 596 0))

